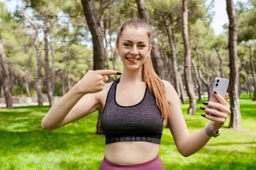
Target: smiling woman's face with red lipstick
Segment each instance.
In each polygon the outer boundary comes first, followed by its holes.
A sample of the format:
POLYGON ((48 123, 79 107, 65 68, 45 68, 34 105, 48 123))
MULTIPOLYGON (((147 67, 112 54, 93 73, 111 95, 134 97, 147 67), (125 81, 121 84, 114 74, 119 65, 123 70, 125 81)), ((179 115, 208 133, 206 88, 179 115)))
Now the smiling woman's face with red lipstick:
POLYGON ((119 43, 116 42, 116 53, 125 68, 136 70, 140 68, 149 57, 152 45, 149 45, 149 37, 146 28, 128 26, 122 31, 119 43))

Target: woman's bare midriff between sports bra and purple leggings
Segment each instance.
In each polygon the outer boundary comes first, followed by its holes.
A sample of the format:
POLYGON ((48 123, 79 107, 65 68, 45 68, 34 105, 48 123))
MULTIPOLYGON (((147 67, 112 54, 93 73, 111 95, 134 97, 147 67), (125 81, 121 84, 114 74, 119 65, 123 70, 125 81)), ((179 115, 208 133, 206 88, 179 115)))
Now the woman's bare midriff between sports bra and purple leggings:
POLYGON ((105 157, 116 164, 140 164, 157 157, 160 144, 123 141, 105 145, 105 157))

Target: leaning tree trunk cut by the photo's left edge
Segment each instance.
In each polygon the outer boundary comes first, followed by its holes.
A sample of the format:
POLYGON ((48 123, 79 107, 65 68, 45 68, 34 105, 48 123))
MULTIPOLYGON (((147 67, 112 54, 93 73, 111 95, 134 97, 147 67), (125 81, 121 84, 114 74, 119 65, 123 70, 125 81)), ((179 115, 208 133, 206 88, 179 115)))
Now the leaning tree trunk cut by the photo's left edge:
POLYGON ((10 91, 10 73, 8 70, 8 63, 6 61, 6 54, 4 52, 3 48, 3 42, 2 42, 2 35, 1 35, 1 30, 0 30, 0 62, 1 62, 1 67, 2 67, 2 87, 3 92, 4 92, 4 99, 6 102, 6 108, 12 109, 12 94, 10 91))

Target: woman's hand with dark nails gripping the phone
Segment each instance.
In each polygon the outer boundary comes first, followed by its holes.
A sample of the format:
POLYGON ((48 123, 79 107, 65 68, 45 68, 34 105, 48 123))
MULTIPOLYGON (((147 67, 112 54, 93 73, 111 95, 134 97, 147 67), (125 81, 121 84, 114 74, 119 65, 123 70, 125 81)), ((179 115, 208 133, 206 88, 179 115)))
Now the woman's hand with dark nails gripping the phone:
POLYGON ((211 113, 211 114, 215 115, 215 116, 209 116, 207 114, 203 114, 203 115, 205 115, 206 119, 209 119, 212 121, 210 124, 211 125, 210 128, 212 131, 217 131, 219 128, 221 128, 224 125, 224 123, 226 122, 227 117, 231 113, 230 104, 226 101, 228 94, 229 93, 226 92, 225 98, 223 98, 220 94, 213 93, 213 95, 216 97, 216 99, 218 99, 218 101, 220 103, 203 102, 203 104, 207 105, 207 107, 216 108, 218 110, 211 109, 211 108, 204 109, 204 108, 200 107, 204 112, 211 113))

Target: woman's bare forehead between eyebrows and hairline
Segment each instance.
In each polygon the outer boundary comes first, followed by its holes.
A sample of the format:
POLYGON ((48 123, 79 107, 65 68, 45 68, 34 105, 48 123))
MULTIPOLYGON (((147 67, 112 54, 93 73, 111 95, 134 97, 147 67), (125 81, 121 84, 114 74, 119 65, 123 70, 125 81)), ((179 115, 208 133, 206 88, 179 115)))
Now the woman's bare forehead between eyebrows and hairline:
POLYGON ((138 27, 136 28, 135 26, 127 26, 125 29, 122 31, 122 34, 119 38, 120 42, 123 40, 130 40, 132 42, 148 42, 149 37, 148 37, 148 29, 146 28, 141 28, 138 27))

